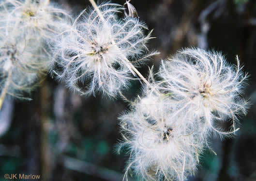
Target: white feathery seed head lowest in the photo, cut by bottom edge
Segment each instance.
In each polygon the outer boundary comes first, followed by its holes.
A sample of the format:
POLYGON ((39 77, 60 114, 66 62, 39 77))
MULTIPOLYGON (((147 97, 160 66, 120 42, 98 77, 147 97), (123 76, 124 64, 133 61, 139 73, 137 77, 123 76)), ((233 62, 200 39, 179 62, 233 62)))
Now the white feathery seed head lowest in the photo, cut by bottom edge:
POLYGON ((145 181, 184 181, 196 170, 201 143, 193 134, 194 126, 182 122, 181 115, 169 119, 172 112, 163 109, 169 105, 160 97, 144 97, 120 117, 120 147, 128 147, 131 155, 126 175, 133 169, 145 181))

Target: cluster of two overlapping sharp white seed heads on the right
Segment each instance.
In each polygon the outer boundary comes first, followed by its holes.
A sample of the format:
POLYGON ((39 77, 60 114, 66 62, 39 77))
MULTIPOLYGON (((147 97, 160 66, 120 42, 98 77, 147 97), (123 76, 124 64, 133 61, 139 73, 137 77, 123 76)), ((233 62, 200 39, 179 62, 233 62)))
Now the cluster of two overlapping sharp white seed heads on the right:
POLYGON ((184 181, 194 174, 198 155, 210 132, 237 131, 237 114, 245 113, 241 92, 246 75, 215 52, 184 49, 163 61, 131 112, 120 117, 122 147, 132 169, 145 181, 184 181), (222 122, 229 123, 224 131, 222 122))

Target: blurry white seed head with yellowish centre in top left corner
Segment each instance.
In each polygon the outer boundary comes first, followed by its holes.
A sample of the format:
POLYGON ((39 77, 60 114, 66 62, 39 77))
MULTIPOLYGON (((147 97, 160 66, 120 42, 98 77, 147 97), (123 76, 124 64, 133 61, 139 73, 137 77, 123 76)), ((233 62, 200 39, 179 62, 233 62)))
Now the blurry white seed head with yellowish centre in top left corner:
POLYGON ((19 29, 18 34, 33 34, 34 38, 52 38, 60 32, 58 24, 69 17, 49 0, 5 0, 2 6, 0 16, 7 30, 19 29))

